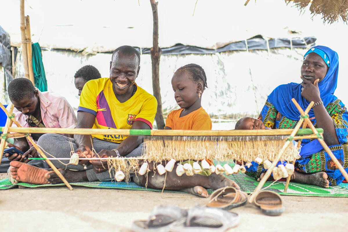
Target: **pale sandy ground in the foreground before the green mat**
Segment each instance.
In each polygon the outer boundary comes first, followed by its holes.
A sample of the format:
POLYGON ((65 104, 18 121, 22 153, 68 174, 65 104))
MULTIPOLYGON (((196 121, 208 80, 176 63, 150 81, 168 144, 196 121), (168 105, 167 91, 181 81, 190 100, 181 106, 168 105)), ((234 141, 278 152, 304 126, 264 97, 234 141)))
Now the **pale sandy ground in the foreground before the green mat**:
MULTIPOLYGON (((0 175, 3 177, 3 174, 0 175)), ((41 187, 0 191, 1 231, 131 231, 157 205, 205 205, 184 193, 41 187)), ((229 231, 347 231, 348 198, 283 196, 285 212, 270 217, 251 204, 232 209, 240 223, 229 231)))

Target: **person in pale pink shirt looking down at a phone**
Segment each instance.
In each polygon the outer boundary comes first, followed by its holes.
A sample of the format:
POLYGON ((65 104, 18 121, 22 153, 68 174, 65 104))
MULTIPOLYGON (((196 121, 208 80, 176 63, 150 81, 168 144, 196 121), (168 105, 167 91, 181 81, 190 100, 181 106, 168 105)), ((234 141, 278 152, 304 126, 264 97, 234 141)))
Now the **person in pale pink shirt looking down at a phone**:
MULTIPOLYGON (((8 86, 8 95, 15 105, 13 111, 15 119, 22 127, 76 127, 77 118, 68 101, 56 93, 40 92, 29 79, 17 78, 11 81, 8 86)), ((12 127, 16 127, 16 125, 13 123, 12 127)), ((34 141, 37 141, 41 135, 31 134, 34 141)), ((38 157, 36 149, 25 137, 17 138, 13 144, 9 144, 9 147, 13 146, 23 151, 24 154, 4 154, 0 172, 6 172, 11 161, 29 162, 28 157, 38 157)))

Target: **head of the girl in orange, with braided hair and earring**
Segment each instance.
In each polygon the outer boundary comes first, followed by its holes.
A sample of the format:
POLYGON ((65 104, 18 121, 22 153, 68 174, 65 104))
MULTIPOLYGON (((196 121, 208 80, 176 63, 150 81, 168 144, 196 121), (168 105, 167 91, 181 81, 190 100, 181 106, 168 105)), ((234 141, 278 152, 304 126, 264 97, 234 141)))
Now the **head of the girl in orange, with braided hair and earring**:
POLYGON ((177 104, 184 109, 199 103, 207 86, 207 77, 198 64, 187 64, 180 67, 173 75, 172 87, 177 104))

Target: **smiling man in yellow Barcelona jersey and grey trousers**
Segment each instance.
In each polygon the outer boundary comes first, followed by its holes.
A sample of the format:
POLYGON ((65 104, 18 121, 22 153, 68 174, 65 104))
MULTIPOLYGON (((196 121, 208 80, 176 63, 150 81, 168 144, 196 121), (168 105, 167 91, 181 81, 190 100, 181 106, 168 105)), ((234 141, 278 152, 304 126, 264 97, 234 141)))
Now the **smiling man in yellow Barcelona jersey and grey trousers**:
MULTIPOLYGON (((131 46, 121 46, 113 51, 110 78, 88 81, 82 89, 77 113, 76 128, 102 129, 152 129, 157 111, 156 98, 136 85, 140 70, 140 55, 131 46)), ((42 135, 38 141, 46 155, 70 158, 70 153, 80 157, 137 157, 142 154, 141 136, 74 135, 68 138, 59 134, 42 135)), ((65 160, 64 160, 65 161, 65 160)), ((81 160, 78 165, 62 164, 52 160, 69 182, 106 181, 110 177, 108 165, 100 160, 81 160)), ((13 161, 11 174, 17 181, 47 184, 61 183, 53 171, 13 161)))

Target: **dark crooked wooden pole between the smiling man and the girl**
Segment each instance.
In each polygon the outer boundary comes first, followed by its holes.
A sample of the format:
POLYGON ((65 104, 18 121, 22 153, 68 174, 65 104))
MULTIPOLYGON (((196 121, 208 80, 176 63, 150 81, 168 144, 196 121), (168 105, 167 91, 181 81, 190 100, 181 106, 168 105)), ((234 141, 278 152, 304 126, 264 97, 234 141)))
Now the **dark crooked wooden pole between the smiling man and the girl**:
POLYGON ((162 50, 158 46, 158 2, 150 0, 153 17, 153 33, 152 33, 152 48, 151 48, 151 62, 152 62, 152 89, 153 96, 157 99, 157 113, 155 116, 157 129, 164 129, 165 123, 162 114, 162 99, 159 87, 159 61, 162 50))

